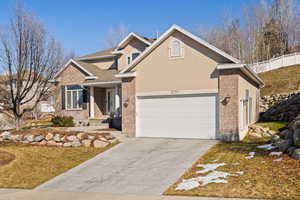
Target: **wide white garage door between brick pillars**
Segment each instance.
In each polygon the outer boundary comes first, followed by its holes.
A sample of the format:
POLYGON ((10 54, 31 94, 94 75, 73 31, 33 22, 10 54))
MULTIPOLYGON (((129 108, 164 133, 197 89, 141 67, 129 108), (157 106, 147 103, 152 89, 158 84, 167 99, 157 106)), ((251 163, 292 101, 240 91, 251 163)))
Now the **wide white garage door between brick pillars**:
POLYGON ((216 96, 139 97, 137 136, 216 138, 216 96))

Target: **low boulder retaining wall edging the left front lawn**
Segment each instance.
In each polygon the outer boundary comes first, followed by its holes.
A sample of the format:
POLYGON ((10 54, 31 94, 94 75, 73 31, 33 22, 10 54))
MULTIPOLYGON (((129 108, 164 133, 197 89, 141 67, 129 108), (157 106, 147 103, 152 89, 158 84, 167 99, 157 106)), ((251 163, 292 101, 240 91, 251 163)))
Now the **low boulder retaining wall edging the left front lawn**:
POLYGON ((16 142, 23 144, 60 146, 60 147, 95 147, 104 148, 109 144, 116 143, 118 140, 111 135, 97 135, 89 133, 78 133, 76 135, 52 134, 44 135, 33 134, 11 134, 5 131, 0 134, 0 142, 16 142))

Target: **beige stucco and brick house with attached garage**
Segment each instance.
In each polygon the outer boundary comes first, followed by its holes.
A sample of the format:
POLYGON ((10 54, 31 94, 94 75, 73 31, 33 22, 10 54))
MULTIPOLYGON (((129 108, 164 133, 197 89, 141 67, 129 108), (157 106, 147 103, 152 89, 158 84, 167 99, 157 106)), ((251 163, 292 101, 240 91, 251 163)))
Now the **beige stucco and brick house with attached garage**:
POLYGON ((57 105, 77 120, 120 119, 136 137, 239 140, 258 119, 263 81, 245 64, 173 25, 156 40, 131 33, 70 60, 57 105))

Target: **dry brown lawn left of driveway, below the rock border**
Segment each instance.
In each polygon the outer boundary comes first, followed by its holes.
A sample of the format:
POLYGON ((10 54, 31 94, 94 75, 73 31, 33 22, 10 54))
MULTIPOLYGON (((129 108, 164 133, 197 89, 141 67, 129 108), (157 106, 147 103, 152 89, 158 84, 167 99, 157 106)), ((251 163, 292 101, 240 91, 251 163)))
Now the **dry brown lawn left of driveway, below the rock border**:
POLYGON ((98 149, 0 144, 0 151, 15 156, 15 160, 0 166, 0 188, 34 188, 112 146, 98 149))

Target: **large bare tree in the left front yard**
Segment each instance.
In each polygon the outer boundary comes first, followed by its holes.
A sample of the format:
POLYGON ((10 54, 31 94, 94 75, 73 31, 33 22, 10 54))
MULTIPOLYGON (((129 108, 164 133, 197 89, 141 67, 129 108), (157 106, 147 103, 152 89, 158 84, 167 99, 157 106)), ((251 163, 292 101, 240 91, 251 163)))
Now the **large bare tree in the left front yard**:
POLYGON ((0 52, 0 101, 13 113, 20 129, 23 115, 33 111, 48 93, 49 80, 62 65, 62 48, 33 14, 17 6, 0 36, 0 52))

